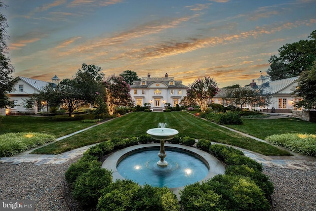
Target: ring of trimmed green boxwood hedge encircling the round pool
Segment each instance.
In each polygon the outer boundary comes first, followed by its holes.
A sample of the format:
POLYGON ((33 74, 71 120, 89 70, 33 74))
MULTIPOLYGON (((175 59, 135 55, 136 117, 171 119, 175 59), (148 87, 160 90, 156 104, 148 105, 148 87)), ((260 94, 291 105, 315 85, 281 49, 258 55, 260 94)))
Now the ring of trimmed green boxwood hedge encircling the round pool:
MULTIPOLYGON (((174 142, 193 145, 192 140, 195 141, 190 137, 177 137, 174 142)), ((65 173, 74 198, 83 206, 101 211, 179 211, 180 206, 181 210, 185 211, 270 210, 269 199, 274 187, 269 177, 262 173, 262 165, 245 157, 240 150, 211 144, 209 140, 200 140, 197 147, 223 161, 226 164, 226 172, 202 183, 185 186, 180 191, 180 204, 176 195, 167 187, 140 186, 128 179, 112 182, 112 172, 101 169, 102 164, 97 161, 100 160, 99 156, 106 155, 113 149, 152 141, 147 135, 138 139, 113 138, 88 149, 65 173)))

